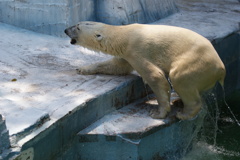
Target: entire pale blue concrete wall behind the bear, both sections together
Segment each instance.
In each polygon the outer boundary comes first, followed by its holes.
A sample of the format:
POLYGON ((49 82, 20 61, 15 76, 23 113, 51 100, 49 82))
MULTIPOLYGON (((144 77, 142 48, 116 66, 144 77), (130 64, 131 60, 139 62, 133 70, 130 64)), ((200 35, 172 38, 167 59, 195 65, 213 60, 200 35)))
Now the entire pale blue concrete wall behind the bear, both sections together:
POLYGON ((79 21, 149 23, 175 12, 174 0, 0 1, 0 22, 56 36, 79 21))

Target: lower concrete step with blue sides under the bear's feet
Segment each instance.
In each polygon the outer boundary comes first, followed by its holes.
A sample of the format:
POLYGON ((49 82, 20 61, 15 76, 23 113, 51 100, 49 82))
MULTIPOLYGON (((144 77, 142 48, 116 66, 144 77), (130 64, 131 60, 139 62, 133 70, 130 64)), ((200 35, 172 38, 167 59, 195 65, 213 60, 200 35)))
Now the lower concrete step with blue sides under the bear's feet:
POLYGON ((149 112, 157 106, 154 96, 148 96, 105 115, 81 130, 58 159, 179 159, 191 148, 206 112, 202 110, 192 120, 178 121, 175 112, 179 108, 172 106, 168 118, 152 119, 149 112))

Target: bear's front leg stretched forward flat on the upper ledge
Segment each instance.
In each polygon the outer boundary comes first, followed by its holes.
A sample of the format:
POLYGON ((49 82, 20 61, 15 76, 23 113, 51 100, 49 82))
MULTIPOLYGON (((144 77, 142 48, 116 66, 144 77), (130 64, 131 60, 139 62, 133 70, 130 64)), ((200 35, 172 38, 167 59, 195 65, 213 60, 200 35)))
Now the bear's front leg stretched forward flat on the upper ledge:
POLYGON ((79 74, 109 74, 109 75, 126 75, 132 72, 131 65, 122 58, 114 57, 111 60, 84 66, 77 69, 79 74))

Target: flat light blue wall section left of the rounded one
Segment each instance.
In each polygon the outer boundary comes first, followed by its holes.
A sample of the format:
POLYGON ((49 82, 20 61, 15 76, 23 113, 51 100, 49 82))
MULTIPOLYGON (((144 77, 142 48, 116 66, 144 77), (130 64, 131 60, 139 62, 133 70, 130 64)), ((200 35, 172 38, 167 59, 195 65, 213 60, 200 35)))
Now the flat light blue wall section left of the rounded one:
POLYGON ((94 20, 93 8, 93 0, 5 0, 0 1, 0 21, 61 36, 78 20, 94 20))

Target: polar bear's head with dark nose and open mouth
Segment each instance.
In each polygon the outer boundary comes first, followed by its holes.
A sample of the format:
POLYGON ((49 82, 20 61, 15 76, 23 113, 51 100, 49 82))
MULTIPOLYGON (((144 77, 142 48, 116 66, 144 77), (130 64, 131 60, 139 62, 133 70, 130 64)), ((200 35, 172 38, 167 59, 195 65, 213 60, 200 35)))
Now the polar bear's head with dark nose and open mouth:
POLYGON ((92 48, 103 39, 103 29, 103 23, 85 21, 65 29, 64 32, 71 38, 71 44, 92 48))

